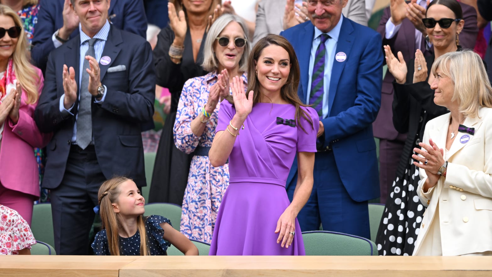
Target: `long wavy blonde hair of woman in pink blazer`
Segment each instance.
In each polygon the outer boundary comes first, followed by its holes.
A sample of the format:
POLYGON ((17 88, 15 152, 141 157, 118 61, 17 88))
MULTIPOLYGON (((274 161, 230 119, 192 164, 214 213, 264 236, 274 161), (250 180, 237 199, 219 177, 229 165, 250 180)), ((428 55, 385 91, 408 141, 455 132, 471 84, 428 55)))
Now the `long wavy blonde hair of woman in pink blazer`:
POLYGON ((24 24, 21 18, 10 7, 0 4, 0 15, 9 16, 14 20, 15 26, 21 27, 21 34, 17 39, 17 46, 12 54, 15 76, 22 89, 27 94, 28 104, 34 104, 38 98, 39 76, 36 73, 35 67, 31 65, 28 59, 28 40, 24 30, 24 24))

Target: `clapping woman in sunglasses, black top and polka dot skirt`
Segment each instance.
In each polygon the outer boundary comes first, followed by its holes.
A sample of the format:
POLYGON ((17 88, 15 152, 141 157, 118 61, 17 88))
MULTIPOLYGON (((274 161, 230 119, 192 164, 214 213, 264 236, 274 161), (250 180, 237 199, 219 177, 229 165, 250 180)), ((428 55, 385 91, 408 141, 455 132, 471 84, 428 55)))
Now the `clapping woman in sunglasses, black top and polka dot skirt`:
POLYGON ((413 148, 422 141, 426 123, 448 112, 433 102, 434 76, 428 72, 435 59, 461 49, 462 17, 458 1, 433 0, 422 20, 433 55, 424 57, 417 50, 415 59, 406 64, 401 52, 396 58, 389 45, 384 46, 388 71, 396 79, 393 82, 393 124, 399 133, 407 133, 407 139, 376 238, 381 255, 411 255, 413 252, 425 211, 417 196, 420 178, 418 168, 412 163, 413 148))

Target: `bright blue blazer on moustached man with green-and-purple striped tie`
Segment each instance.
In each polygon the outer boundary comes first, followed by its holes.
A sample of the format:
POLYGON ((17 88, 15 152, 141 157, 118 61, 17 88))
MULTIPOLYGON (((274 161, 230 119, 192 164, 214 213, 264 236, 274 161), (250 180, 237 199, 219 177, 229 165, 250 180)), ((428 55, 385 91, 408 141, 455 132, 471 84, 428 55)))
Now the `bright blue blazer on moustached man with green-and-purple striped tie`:
MULTIPOLYGON (((310 42, 313 41, 314 26, 308 21, 280 34, 292 44, 299 60, 301 83, 298 94, 304 102, 308 93, 310 42)), ((381 41, 381 35, 376 31, 343 17, 335 53, 344 52, 347 58, 343 62, 333 62, 329 115, 320 119, 325 128, 323 145, 332 145, 340 179, 355 201, 379 196, 376 144, 371 124, 381 104, 381 41)), ((324 157, 316 155, 315 162, 323 162, 324 157)), ((295 161, 287 185, 296 183, 292 180, 296 171, 295 161)))

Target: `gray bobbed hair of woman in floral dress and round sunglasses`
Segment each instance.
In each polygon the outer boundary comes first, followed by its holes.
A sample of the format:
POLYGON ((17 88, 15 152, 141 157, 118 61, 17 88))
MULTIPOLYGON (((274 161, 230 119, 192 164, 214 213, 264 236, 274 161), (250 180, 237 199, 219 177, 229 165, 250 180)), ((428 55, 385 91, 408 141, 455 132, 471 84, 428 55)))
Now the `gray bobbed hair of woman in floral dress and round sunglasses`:
POLYGON ((237 22, 241 26, 241 29, 243 29, 244 39, 246 39, 246 45, 244 46, 243 56, 239 61, 239 71, 247 70, 247 58, 249 57, 249 52, 251 51, 250 50, 251 44, 247 40, 248 30, 247 30, 246 23, 241 17, 226 13, 220 16, 219 18, 217 18, 217 20, 215 20, 214 24, 212 24, 212 27, 210 27, 210 30, 207 33, 207 38, 205 39, 205 45, 203 46, 203 63, 202 63, 202 67, 206 71, 210 72, 210 71, 217 70, 218 62, 214 52, 214 43, 216 41, 215 38, 231 22, 237 22))

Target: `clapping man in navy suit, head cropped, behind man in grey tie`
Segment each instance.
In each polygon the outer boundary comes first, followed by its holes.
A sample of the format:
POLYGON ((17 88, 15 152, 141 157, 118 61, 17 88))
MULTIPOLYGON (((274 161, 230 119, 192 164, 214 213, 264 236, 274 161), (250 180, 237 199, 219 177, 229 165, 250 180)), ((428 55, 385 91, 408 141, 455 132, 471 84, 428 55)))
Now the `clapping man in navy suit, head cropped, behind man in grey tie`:
MULTIPOLYGON (((108 15, 114 27, 146 37, 147 18, 142 0, 112 0, 108 15)), ((32 38, 32 62, 44 74, 50 52, 78 34, 79 18, 70 8, 70 0, 41 1, 32 38)))

